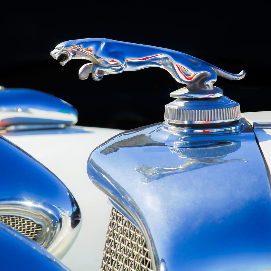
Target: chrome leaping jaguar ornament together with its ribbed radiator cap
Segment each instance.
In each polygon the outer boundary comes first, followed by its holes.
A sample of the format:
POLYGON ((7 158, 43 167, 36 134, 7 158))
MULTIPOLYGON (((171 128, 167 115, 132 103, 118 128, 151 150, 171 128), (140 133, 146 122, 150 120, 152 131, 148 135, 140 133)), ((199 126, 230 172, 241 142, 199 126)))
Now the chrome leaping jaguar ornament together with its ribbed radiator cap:
POLYGON ((169 123, 224 123, 241 117, 239 104, 224 97, 223 90, 213 84, 218 75, 230 80, 242 79, 243 70, 232 74, 178 51, 103 38, 61 42, 51 51, 55 59, 60 55, 65 55, 61 65, 71 59, 91 61, 80 68, 80 79, 87 79, 90 73, 99 81, 106 74, 123 71, 149 67, 167 70, 177 82, 187 85, 170 94, 178 99, 166 105, 165 121, 169 123))

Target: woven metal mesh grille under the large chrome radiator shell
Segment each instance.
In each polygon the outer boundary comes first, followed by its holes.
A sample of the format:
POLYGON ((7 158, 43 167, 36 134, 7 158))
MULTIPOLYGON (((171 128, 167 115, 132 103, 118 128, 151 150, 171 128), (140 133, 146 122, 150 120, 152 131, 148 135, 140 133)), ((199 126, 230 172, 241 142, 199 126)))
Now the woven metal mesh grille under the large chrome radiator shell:
POLYGON ((149 250, 142 233, 112 208, 101 271, 152 271, 149 250))

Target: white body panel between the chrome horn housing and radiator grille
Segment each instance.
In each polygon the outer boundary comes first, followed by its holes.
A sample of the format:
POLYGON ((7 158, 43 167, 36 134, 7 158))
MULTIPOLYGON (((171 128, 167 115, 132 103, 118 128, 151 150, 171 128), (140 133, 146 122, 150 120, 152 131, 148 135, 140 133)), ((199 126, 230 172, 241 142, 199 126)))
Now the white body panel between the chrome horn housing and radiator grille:
POLYGON ((72 271, 100 269, 111 206, 89 180, 86 164, 95 147, 120 132, 122 130, 71 126, 2 133, 58 176, 76 199, 82 213, 82 226, 61 260, 72 271))

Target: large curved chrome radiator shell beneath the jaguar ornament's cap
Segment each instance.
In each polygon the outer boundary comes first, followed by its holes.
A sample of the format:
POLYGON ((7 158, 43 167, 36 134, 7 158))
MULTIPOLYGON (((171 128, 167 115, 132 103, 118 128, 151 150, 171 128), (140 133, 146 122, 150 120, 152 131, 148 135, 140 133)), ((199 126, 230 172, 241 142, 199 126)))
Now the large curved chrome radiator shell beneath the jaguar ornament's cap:
POLYGON ((242 121, 226 134, 145 126, 90 155, 89 178, 142 232, 154 270, 271 269, 269 179, 242 121))

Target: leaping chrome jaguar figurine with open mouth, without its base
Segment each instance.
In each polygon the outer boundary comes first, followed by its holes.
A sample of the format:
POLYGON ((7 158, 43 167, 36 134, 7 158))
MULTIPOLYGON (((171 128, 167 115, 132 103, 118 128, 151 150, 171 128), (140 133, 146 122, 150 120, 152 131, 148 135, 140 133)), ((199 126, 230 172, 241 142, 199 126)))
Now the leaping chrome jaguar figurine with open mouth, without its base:
POLYGON ((105 74, 160 67, 167 70, 177 82, 187 84, 189 89, 212 90, 217 75, 231 80, 245 76, 244 70, 238 74, 228 73, 178 51, 112 39, 89 38, 61 42, 51 51, 51 56, 58 59, 62 54, 65 58, 60 61, 61 65, 71 59, 91 61, 80 68, 79 78, 87 79, 92 73, 95 81, 101 80, 105 74))

